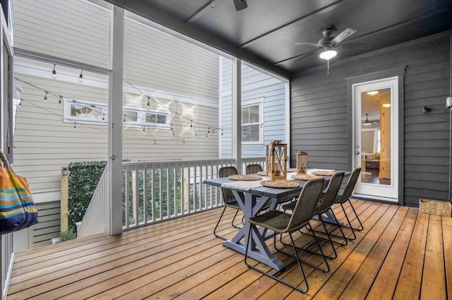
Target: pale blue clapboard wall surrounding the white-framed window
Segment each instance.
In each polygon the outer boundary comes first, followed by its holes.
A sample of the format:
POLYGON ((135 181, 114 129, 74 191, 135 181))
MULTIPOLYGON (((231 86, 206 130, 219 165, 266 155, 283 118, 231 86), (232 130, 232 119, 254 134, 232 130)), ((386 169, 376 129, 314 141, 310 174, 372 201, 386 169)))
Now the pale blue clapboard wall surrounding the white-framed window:
MULTIPOLYGON (((220 128, 232 128, 232 62, 222 59, 220 68, 220 128)), ((242 143, 242 157, 265 156, 266 143, 285 141, 285 83, 249 66, 242 66, 242 105, 252 100, 263 100, 263 142, 242 143)), ((225 130, 220 140, 220 157, 232 157, 231 131, 225 130)))

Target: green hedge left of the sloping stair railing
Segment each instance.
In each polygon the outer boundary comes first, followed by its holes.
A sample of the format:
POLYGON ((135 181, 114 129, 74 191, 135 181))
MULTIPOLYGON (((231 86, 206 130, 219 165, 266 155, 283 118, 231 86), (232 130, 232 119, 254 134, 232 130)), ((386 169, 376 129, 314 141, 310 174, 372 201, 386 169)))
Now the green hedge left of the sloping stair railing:
POLYGON ((76 222, 83 220, 106 164, 106 161, 69 164, 68 219, 71 232, 77 232, 76 222))

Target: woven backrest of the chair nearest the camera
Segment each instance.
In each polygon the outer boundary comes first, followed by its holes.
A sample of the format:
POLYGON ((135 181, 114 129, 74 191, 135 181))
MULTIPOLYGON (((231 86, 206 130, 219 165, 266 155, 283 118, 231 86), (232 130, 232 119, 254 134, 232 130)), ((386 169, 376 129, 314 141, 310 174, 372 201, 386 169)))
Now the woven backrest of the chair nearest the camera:
POLYGON ((297 204, 292 211, 292 217, 290 217, 289 224, 287 224, 287 232, 300 229, 314 217, 319 204, 319 197, 323 190, 323 184, 325 184, 323 177, 311 179, 304 184, 302 191, 299 193, 297 204))

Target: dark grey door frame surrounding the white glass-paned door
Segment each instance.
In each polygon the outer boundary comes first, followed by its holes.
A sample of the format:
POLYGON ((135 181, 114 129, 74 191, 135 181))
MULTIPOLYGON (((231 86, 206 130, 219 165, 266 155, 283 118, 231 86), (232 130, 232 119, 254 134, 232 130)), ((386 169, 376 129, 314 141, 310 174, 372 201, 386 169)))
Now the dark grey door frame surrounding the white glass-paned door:
MULTIPOLYGON (((403 124, 404 121, 404 76, 405 76, 405 68, 406 66, 400 66, 398 68, 391 68, 384 71, 378 71, 374 73, 368 73, 360 76, 354 76, 345 78, 345 82, 347 84, 347 114, 348 114, 348 140, 349 140, 349 150, 348 150, 348 167, 352 169, 355 162, 355 145, 353 145, 354 137, 353 137, 353 126, 354 126, 354 114, 353 114, 353 85, 357 83, 364 83, 374 80, 381 80, 384 78, 398 77, 398 172, 394 174, 394 176, 398 176, 398 205, 404 205, 404 197, 403 197, 403 174, 404 174, 404 155, 403 152, 405 150, 404 145, 404 131, 403 124)), ((378 199, 372 199, 378 200, 378 199)), ((386 201, 382 201, 386 202, 386 201)), ((394 204, 394 202, 388 202, 394 204)))

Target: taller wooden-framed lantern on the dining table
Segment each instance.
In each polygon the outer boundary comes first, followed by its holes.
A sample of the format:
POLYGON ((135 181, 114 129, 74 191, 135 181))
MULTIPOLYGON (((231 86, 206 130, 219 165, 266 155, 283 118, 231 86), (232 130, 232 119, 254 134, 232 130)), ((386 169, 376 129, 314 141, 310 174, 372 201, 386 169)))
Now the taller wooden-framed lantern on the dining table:
POLYGON ((273 140, 266 145, 266 176, 271 180, 286 179, 287 144, 273 140))

